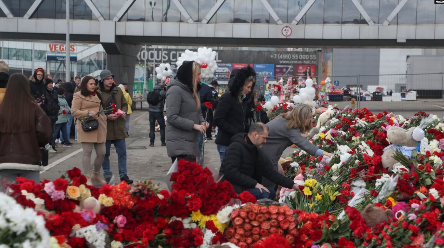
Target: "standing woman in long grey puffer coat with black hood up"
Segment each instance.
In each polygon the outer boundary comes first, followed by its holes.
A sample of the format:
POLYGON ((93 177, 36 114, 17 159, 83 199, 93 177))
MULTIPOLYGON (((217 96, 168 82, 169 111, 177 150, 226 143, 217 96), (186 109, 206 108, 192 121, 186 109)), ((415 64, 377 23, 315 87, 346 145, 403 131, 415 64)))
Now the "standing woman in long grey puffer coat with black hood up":
POLYGON ((166 152, 176 159, 195 162, 199 155, 198 134, 209 124, 202 116, 199 100, 201 66, 185 61, 166 87, 166 152))

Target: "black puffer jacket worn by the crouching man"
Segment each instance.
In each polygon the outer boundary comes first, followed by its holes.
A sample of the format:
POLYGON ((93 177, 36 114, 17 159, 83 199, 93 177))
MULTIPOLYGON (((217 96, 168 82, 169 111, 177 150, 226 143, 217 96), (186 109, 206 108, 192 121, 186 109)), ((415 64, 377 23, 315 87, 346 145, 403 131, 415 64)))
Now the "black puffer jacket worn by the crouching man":
POLYGON ((285 188, 291 189, 294 184, 293 180, 273 169, 270 159, 251 143, 246 133, 233 136, 219 172, 238 194, 254 188, 257 183, 262 184, 262 176, 285 188))

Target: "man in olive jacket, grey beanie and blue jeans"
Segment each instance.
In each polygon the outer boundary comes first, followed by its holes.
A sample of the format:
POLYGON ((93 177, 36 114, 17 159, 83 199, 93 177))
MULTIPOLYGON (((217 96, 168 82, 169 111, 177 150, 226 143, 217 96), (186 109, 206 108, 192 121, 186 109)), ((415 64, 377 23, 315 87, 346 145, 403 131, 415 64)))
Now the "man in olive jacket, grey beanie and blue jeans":
POLYGON ((127 145, 125 142, 125 139, 128 137, 125 131, 125 116, 128 111, 128 104, 123 96, 122 90, 113 84, 114 75, 111 71, 103 70, 100 73, 100 78, 102 81, 99 82, 97 95, 100 101, 102 101, 103 109, 114 103, 117 109, 124 112, 121 116, 113 113, 107 115, 107 143, 105 145, 105 158, 102 163, 103 176, 107 183, 111 181, 112 172, 110 169, 109 156, 111 144, 114 144, 119 160, 120 181, 126 181, 128 184, 132 184, 133 180, 127 175, 127 145))

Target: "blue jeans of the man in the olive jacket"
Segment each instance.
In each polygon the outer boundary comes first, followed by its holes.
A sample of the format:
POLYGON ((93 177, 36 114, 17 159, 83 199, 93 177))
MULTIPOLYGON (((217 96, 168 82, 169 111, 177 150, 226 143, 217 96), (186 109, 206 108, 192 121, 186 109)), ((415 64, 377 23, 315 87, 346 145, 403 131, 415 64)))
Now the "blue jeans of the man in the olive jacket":
POLYGON ((111 144, 114 144, 115 152, 117 153, 117 159, 119 160, 119 176, 122 178, 127 175, 127 144, 125 139, 107 140, 107 143, 105 143, 105 158, 102 163, 103 177, 112 177, 110 169, 111 144))

